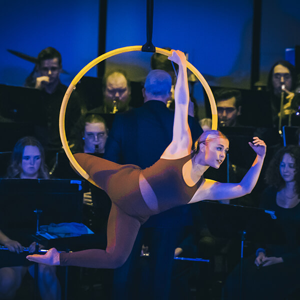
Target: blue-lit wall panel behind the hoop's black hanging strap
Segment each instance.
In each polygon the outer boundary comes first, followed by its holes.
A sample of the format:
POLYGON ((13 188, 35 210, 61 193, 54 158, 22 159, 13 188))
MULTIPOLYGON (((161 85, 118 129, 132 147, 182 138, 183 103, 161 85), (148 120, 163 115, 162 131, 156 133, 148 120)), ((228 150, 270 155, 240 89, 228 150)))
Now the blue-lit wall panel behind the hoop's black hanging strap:
MULTIPOLYGON (((108 0, 106 50, 146 41, 146 1, 108 0)), ((188 52, 189 61, 214 85, 249 87, 252 1, 154 1, 153 44, 188 52)), ((138 80, 149 55, 131 53, 109 60, 138 80), (128 71, 128 70, 127 70, 128 71)))

